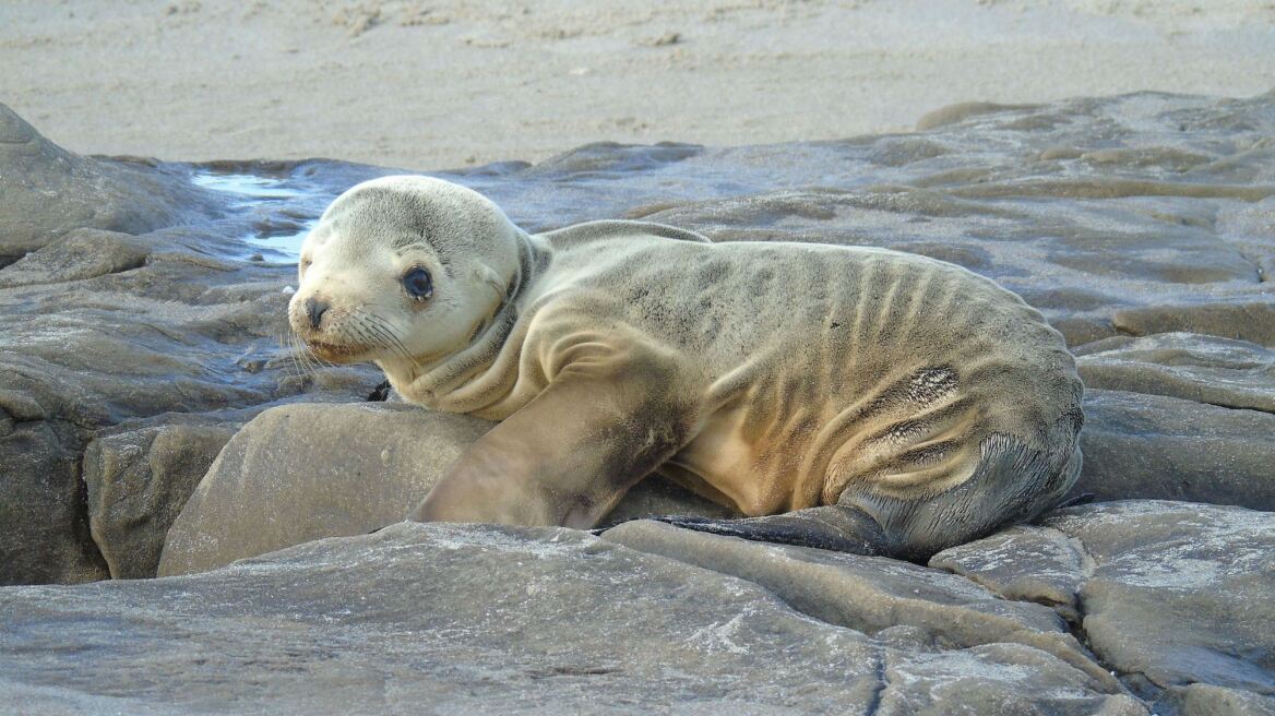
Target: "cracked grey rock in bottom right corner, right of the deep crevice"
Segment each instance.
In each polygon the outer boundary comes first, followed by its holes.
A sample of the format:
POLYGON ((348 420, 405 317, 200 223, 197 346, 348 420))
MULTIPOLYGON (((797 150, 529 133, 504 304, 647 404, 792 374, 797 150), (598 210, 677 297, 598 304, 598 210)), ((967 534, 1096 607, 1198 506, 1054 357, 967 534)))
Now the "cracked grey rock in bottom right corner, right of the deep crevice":
POLYGON ((1119 502, 1046 524, 1096 563, 1080 599, 1104 662, 1160 688, 1275 694, 1275 515, 1119 502))

